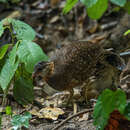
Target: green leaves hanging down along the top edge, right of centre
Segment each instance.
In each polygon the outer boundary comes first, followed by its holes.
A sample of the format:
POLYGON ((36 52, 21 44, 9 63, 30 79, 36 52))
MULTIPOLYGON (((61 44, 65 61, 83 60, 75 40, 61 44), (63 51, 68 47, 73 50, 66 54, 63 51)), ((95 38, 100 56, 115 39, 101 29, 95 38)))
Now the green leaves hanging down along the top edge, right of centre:
MULTIPOLYGON (((87 9, 88 16, 92 19, 99 19, 108 8, 108 0, 80 0, 87 9)), ((63 13, 68 13, 78 0, 67 0, 63 13)), ((126 0, 110 0, 115 5, 123 7, 126 0)), ((126 5, 127 6, 127 5, 126 5)), ((127 9, 130 8, 127 6, 127 9)))

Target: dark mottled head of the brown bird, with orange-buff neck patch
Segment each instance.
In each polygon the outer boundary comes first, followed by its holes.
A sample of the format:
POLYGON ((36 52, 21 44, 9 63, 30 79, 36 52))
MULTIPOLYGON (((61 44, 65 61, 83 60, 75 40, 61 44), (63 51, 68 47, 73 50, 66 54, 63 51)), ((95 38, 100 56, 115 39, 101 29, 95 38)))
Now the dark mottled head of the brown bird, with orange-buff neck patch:
POLYGON ((53 62, 41 61, 37 63, 32 74, 34 85, 42 86, 43 82, 47 80, 47 78, 49 77, 49 75, 51 75, 53 70, 53 62))

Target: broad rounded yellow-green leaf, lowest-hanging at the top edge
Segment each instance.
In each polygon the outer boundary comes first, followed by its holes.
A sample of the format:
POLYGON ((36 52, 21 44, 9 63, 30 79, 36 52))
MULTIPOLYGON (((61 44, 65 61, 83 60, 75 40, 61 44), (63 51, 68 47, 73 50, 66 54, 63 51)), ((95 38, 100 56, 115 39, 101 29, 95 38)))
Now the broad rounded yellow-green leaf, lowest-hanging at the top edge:
POLYGON ((99 19, 107 10, 108 0, 98 0, 92 7, 87 8, 88 16, 92 19, 99 19))

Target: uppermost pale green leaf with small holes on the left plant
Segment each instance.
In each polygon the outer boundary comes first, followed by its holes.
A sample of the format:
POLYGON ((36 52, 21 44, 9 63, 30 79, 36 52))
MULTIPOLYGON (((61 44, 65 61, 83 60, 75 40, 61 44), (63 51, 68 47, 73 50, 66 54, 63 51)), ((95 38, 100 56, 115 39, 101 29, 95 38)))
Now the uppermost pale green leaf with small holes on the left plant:
POLYGON ((19 20, 11 20, 13 29, 16 33, 16 38, 18 40, 34 40, 35 31, 28 24, 19 21, 19 20))

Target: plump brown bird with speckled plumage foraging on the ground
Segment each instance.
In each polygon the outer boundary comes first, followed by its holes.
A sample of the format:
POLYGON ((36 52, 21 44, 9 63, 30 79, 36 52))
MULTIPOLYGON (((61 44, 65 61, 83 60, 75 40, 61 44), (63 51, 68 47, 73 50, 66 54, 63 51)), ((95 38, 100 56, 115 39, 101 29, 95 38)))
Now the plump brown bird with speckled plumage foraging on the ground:
POLYGON ((94 94, 105 88, 117 87, 119 70, 123 66, 118 55, 104 50, 100 44, 74 41, 59 49, 49 62, 38 63, 33 77, 36 85, 41 80, 48 83, 44 88, 47 94, 55 90, 73 92, 74 87, 86 82, 83 95, 89 95, 90 90, 94 94), (91 82, 91 77, 94 77, 94 82, 91 82))

